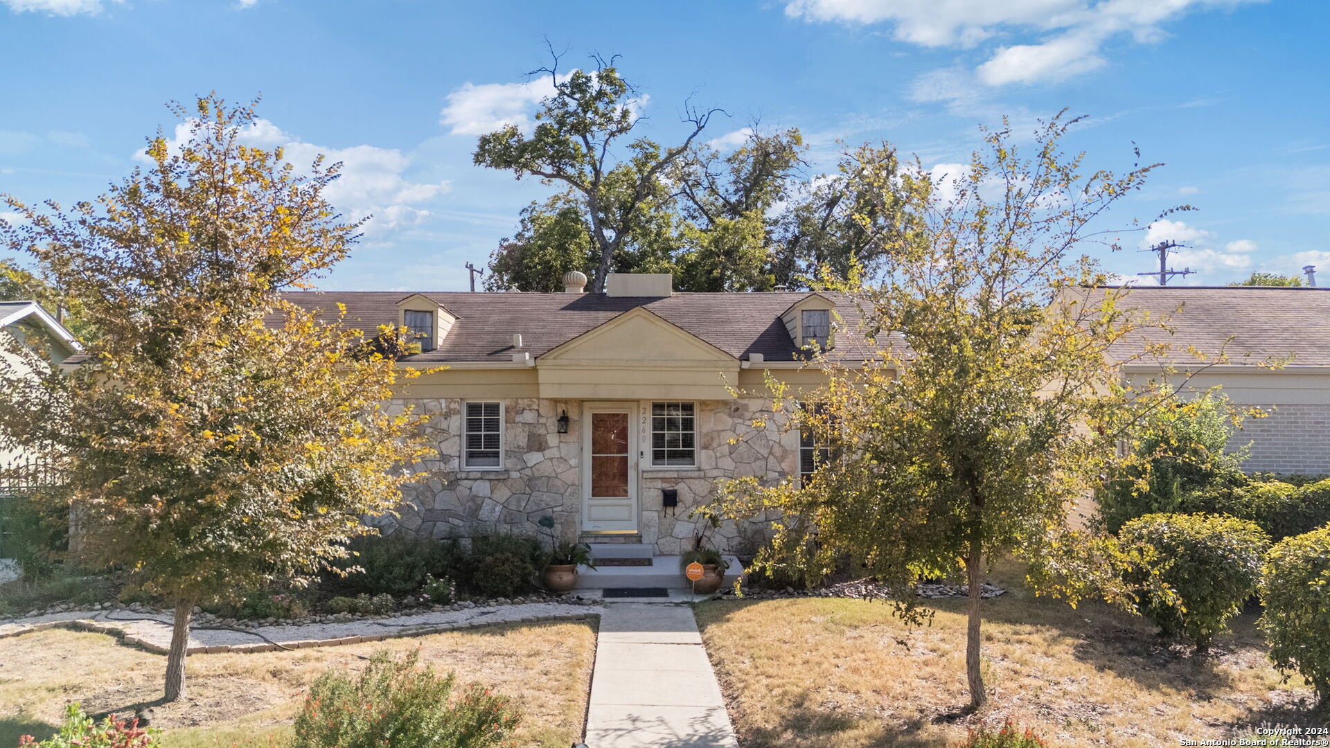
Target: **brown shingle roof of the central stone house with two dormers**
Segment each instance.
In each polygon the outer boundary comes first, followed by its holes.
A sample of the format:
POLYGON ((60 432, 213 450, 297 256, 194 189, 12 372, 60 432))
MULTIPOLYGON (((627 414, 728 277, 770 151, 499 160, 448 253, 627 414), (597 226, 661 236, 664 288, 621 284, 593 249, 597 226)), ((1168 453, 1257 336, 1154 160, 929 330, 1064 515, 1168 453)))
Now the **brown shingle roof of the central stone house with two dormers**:
MULTIPOLYGON (((350 323, 372 331, 395 325, 398 301, 410 291, 290 291, 283 298, 306 309, 332 310, 346 306, 350 323)), ((581 335, 620 314, 645 306, 654 314, 697 335, 735 358, 759 353, 767 361, 794 361, 797 349, 781 321, 790 305, 811 295, 807 291, 775 293, 674 293, 669 297, 608 297, 568 293, 466 293, 422 291, 452 313, 458 322, 432 351, 411 357, 420 362, 511 361, 512 335, 521 334, 523 347, 533 357, 581 335)), ((837 310, 847 327, 858 326, 853 303, 837 310)), ((850 343, 849 338, 845 343, 850 343)), ((853 345, 838 342, 843 358, 854 359, 853 345)))

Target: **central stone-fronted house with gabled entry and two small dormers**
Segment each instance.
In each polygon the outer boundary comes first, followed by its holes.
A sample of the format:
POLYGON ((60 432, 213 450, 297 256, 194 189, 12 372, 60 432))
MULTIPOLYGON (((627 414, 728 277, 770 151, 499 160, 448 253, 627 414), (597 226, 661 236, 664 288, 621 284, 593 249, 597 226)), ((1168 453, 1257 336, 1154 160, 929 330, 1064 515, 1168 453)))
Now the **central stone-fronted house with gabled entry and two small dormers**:
MULTIPOLYGON (((777 419, 767 371, 815 386, 805 367, 827 343, 862 357, 853 305, 818 293, 673 293, 670 276, 610 274, 605 293, 287 293, 306 307, 346 306, 366 330, 410 326, 420 354, 402 366, 446 370, 406 383, 399 403, 430 414, 438 478, 404 490, 394 524, 446 538, 539 532, 552 516, 567 539, 641 542, 658 555, 692 548, 689 512, 717 482, 810 470, 813 450, 777 419), (742 391, 739 391, 742 390, 742 391)), ((391 527, 390 527, 391 528, 391 527)), ((388 528, 386 528, 388 530, 388 528)), ((759 527, 709 535, 738 550, 759 527)))

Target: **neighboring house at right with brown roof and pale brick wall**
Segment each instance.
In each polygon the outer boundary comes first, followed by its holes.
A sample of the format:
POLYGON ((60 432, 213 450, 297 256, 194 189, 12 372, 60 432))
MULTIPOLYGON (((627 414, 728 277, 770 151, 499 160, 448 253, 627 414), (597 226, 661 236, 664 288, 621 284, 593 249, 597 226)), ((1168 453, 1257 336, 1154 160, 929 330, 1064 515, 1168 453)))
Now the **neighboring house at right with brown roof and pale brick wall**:
MULTIPOLYGON (((1248 471, 1330 474, 1330 287, 1290 286, 1136 286, 1124 307, 1168 318, 1170 334, 1153 330, 1150 341, 1170 345, 1168 361, 1128 365, 1136 381, 1172 381, 1204 391, 1220 386, 1234 403, 1258 406, 1269 415, 1248 418, 1232 447, 1250 442, 1248 471), (1205 357, 1224 351, 1228 363, 1205 357), (1283 366, 1270 367, 1279 362, 1283 366)), ((1144 350, 1142 335, 1123 347, 1144 350)))

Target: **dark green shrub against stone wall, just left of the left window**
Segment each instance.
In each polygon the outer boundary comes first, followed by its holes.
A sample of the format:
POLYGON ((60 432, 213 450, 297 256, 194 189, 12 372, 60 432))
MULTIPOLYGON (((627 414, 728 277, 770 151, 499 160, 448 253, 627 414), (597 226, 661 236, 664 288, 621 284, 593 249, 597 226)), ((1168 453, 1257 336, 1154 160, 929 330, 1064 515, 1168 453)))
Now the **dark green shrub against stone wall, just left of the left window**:
POLYGON ((339 592, 410 595, 420 590, 427 574, 448 567, 451 546, 404 532, 387 538, 356 538, 347 546, 355 555, 338 559, 335 566, 343 570, 358 566, 363 571, 352 571, 343 578, 330 576, 326 584, 339 592))

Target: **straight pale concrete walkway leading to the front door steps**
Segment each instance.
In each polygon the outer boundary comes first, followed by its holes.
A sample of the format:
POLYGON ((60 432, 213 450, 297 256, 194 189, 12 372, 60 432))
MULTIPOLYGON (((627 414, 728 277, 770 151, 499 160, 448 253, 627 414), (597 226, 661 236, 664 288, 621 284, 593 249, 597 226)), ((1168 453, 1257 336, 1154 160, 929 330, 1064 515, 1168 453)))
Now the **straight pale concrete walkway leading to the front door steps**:
POLYGON ((588 748, 738 748, 692 608, 605 603, 588 748))

